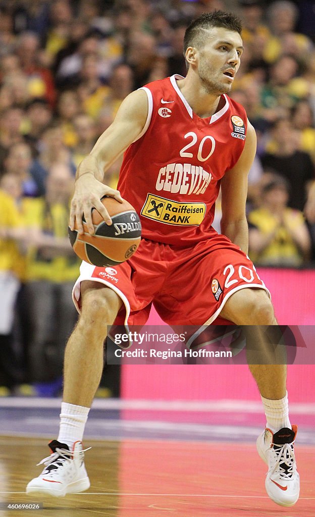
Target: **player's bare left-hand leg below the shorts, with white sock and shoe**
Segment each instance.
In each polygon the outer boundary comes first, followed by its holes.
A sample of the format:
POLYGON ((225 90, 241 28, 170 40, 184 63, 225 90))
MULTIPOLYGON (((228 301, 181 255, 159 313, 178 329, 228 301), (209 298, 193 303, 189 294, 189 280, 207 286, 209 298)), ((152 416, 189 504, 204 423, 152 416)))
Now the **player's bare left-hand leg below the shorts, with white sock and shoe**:
POLYGON ((57 440, 52 454, 42 460, 42 473, 27 485, 27 493, 57 497, 89 488, 84 466, 82 437, 89 407, 103 369, 103 342, 122 300, 110 288, 95 281, 81 283, 81 315, 65 351, 64 397, 57 440))

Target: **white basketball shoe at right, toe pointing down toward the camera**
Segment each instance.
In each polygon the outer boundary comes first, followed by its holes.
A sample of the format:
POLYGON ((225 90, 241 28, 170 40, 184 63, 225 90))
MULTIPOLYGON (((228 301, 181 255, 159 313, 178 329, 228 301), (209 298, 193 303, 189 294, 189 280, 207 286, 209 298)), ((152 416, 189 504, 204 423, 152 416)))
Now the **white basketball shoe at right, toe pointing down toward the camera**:
POLYGON ((299 475, 296 470, 293 443, 297 426, 280 429, 275 434, 265 429, 257 439, 257 450, 268 465, 266 491, 281 506, 293 506, 299 496, 299 475))

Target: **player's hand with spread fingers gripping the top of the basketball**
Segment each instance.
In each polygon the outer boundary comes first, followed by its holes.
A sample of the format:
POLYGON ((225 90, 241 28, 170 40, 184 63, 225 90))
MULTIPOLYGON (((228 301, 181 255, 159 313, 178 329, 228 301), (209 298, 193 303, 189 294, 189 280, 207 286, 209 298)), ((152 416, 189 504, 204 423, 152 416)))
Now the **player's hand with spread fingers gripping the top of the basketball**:
POLYGON ((82 218, 84 217, 88 233, 94 234, 92 208, 96 208, 106 224, 112 224, 107 209, 100 201, 104 195, 114 197, 119 203, 123 202, 118 190, 98 181, 92 172, 86 172, 77 178, 70 207, 69 226, 71 230, 77 229, 78 233, 82 235, 84 233, 82 218))

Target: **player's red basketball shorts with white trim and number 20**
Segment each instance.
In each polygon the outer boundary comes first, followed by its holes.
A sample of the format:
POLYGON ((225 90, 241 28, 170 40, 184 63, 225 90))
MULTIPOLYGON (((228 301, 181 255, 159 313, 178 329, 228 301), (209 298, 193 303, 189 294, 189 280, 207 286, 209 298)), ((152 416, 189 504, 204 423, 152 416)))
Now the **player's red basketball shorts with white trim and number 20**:
POLYGON ((142 239, 137 252, 115 267, 95 267, 83 262, 73 287, 80 312, 80 284, 101 282, 123 300, 115 325, 144 325, 152 303, 169 325, 209 325, 229 297, 245 287, 259 287, 268 295, 249 258, 223 235, 192 247, 178 247, 142 239))

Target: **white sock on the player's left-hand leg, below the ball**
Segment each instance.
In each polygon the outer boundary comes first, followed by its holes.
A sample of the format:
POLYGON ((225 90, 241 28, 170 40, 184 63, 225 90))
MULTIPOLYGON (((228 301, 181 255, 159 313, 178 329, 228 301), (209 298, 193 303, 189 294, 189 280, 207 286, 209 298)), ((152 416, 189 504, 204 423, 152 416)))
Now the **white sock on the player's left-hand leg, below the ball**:
POLYGON ((74 442, 82 441, 89 407, 62 402, 58 442, 72 449, 74 442))

